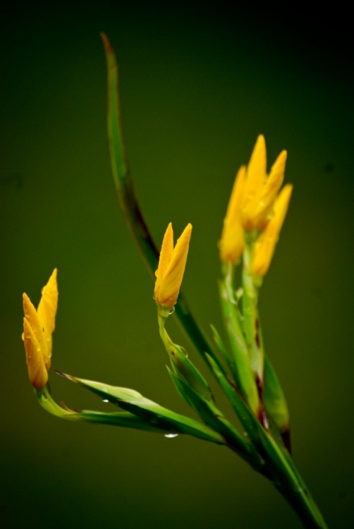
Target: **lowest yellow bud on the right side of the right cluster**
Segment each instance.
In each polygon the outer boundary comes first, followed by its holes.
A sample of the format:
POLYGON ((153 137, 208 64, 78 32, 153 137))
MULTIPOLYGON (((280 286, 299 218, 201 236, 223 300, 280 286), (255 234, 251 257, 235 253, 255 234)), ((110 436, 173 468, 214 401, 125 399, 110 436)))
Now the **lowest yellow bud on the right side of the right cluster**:
POLYGON ((274 216, 255 244, 255 255, 252 265, 252 273, 255 276, 264 277, 268 272, 271 257, 273 257, 275 245, 278 242, 279 232, 288 211, 292 191, 293 186, 289 183, 283 187, 274 204, 274 216))

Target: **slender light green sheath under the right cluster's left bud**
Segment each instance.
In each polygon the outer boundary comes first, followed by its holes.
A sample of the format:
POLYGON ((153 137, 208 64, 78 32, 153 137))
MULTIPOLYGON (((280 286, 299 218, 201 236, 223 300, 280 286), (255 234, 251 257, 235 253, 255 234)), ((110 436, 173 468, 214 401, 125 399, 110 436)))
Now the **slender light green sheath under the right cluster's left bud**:
POLYGON ((226 287, 225 281, 219 281, 219 288, 221 309, 235 364, 233 376, 250 408, 257 414, 260 409, 260 397, 250 362, 248 347, 239 323, 238 308, 233 299, 230 298, 229 289, 226 287))

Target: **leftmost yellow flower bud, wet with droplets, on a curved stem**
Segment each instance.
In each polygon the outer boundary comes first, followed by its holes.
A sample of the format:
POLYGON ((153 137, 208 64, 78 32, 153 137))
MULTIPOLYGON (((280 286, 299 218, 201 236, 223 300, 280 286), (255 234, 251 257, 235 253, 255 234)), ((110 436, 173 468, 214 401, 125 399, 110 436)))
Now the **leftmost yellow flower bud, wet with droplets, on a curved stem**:
POLYGON ((32 386, 43 389, 47 384, 51 364, 51 334, 55 328, 58 305, 56 269, 42 289, 42 298, 37 310, 27 294, 23 294, 23 341, 25 342, 28 376, 32 386))

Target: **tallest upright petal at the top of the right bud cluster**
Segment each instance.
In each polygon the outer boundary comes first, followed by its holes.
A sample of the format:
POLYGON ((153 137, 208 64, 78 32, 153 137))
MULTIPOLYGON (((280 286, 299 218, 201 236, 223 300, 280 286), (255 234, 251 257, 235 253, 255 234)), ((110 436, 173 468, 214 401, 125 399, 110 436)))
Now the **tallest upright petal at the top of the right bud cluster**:
POLYGON ((253 149, 250 163, 247 166, 247 178, 243 191, 241 205, 241 219, 245 230, 255 229, 253 215, 257 203, 260 201, 260 193, 267 177, 267 152, 264 136, 261 134, 253 149))

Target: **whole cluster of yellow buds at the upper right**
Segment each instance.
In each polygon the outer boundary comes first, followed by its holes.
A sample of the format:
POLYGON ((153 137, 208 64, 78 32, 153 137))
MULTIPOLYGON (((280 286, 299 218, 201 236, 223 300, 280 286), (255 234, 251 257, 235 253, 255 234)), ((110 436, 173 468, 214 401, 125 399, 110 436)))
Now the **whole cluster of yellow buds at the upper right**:
POLYGON ((267 175, 264 136, 260 135, 248 166, 242 166, 233 185, 219 242, 221 262, 233 265, 245 247, 245 231, 257 234, 252 273, 264 276, 269 269, 293 186, 283 187, 286 151, 282 151, 267 175), (279 193, 280 191, 280 193, 279 193))

